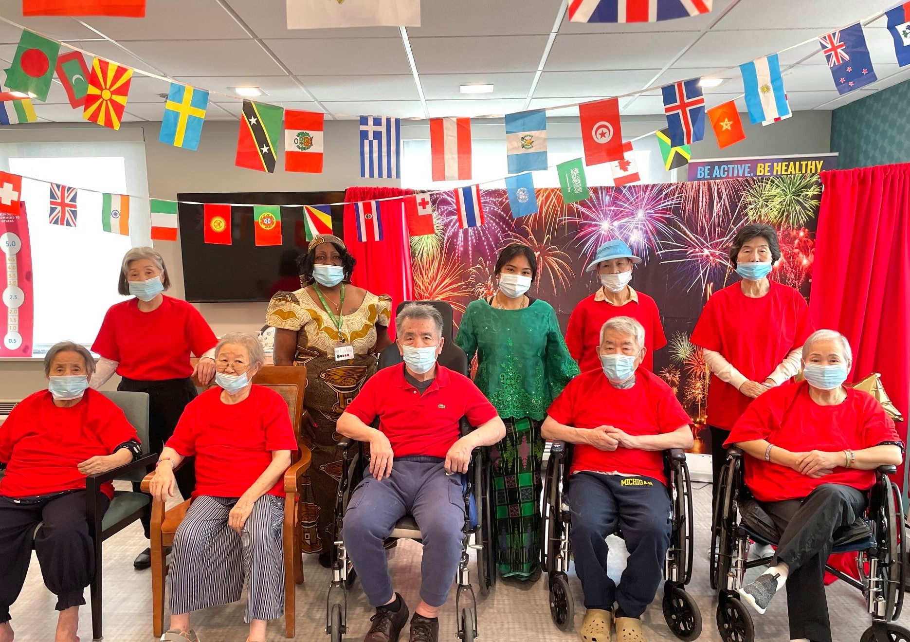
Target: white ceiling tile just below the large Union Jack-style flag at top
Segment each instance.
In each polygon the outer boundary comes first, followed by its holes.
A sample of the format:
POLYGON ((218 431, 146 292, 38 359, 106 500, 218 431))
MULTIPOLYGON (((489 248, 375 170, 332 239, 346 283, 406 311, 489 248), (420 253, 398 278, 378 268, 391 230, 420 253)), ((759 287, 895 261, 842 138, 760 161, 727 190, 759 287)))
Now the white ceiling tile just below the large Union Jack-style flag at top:
POLYGON ((660 69, 695 36, 691 32, 560 35, 544 70, 660 69))

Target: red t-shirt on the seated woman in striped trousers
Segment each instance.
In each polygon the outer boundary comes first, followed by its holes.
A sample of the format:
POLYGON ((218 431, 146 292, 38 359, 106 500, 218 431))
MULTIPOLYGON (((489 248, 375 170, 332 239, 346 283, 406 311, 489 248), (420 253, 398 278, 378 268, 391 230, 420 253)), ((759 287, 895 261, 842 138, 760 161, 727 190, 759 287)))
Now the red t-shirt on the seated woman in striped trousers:
MULTIPOLYGON (((297 452, 288 403, 278 392, 254 384, 233 404, 222 402, 221 392, 215 386, 187 403, 165 444, 185 457, 196 455, 194 497, 239 497, 272 463, 272 451, 297 452)), ((268 494, 284 495, 284 480, 268 494)))

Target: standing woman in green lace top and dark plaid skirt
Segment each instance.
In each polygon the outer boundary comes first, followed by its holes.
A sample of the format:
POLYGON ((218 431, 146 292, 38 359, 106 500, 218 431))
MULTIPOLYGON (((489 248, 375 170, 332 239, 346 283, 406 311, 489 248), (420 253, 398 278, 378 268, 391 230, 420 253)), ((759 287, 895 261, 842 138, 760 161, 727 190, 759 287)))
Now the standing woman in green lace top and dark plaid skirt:
POLYGON ((496 261, 496 294, 471 301, 455 339, 469 361, 477 354, 474 382, 506 424, 490 448, 500 573, 531 581, 541 576, 541 422, 579 372, 556 312, 526 294, 536 277, 531 248, 507 246, 496 261))

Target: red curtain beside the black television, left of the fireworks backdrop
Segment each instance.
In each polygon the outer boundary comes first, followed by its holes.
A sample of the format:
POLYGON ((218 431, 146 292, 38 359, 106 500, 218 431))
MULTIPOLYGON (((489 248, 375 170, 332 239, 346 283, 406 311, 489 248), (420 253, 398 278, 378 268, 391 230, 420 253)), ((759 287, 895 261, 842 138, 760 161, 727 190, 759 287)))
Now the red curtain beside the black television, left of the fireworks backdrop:
MULTIPOLYGON (((345 202, 388 199, 413 194, 412 189, 400 188, 348 188, 345 202)), ((357 260, 351 282, 373 294, 388 294, 392 298, 392 322, 389 335, 395 337, 395 308, 401 301, 414 299, 414 277, 410 270, 410 237, 400 205, 380 205, 382 240, 361 243, 357 239, 357 221, 354 206, 344 208, 344 242, 357 260)))

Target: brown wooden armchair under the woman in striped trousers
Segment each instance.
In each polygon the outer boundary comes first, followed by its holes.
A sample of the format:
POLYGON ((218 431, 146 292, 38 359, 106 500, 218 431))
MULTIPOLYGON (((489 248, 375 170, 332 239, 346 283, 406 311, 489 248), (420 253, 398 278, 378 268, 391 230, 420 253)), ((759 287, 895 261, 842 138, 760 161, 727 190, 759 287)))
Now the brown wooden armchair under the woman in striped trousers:
MULTIPOLYGON (((288 413, 294 434, 300 443, 300 417, 303 413, 303 396, 307 387, 307 369, 302 366, 263 366, 253 378, 253 383, 278 392, 288 403, 288 413)), ((198 382, 197 382, 197 385, 198 382)), ((300 548, 300 517, 298 515, 300 477, 309 468, 309 450, 300 449, 293 455, 294 463, 285 472, 285 515, 282 527, 285 558, 285 635, 294 637, 296 628, 296 588, 303 584, 303 554, 300 548)), ((142 480, 146 493, 152 480, 147 474, 142 480)), ((155 637, 164 633, 165 577, 167 554, 165 549, 174 542, 177 526, 187 515, 189 500, 166 510, 158 500, 152 502, 152 629, 155 637)))

